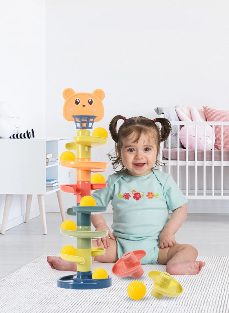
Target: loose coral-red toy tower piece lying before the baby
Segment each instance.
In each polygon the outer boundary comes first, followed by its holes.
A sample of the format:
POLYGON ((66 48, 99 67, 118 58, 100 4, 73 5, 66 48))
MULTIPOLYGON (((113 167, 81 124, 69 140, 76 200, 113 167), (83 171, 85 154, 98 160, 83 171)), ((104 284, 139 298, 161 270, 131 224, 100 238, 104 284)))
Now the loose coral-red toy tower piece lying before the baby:
POLYGON ((112 274, 118 277, 132 275, 133 278, 138 278, 143 275, 144 270, 141 267, 141 259, 146 255, 144 250, 135 250, 126 252, 114 264, 112 274))

